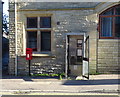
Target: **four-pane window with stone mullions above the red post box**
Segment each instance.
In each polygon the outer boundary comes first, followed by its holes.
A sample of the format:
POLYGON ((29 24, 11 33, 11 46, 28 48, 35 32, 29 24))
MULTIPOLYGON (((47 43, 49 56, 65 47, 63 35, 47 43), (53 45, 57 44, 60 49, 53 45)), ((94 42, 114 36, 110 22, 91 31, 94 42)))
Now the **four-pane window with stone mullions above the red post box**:
POLYGON ((51 51, 51 17, 27 17, 27 47, 51 51))

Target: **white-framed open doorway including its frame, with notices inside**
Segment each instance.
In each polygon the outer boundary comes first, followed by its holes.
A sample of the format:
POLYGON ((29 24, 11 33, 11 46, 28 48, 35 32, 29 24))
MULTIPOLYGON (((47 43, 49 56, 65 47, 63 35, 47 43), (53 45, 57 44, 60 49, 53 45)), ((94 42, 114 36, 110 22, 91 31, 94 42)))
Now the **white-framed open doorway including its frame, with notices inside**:
POLYGON ((89 72, 89 68, 85 69, 88 64, 86 64, 84 59, 89 50, 88 48, 86 49, 85 40, 85 33, 70 33, 66 35, 66 77, 86 77, 86 73, 89 72))

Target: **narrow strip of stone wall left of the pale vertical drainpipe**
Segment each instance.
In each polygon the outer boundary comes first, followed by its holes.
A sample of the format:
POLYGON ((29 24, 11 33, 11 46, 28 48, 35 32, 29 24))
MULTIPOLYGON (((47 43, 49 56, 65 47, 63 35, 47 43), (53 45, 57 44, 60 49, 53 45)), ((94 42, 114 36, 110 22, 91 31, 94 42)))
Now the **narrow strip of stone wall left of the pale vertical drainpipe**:
POLYGON ((9 2, 9 74, 15 74, 15 5, 9 2))

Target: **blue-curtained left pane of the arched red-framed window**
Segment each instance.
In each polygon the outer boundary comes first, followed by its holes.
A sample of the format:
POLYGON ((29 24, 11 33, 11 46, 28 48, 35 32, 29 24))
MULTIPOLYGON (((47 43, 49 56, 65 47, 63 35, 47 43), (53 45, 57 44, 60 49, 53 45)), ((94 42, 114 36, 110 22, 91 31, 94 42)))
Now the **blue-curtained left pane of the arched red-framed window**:
POLYGON ((112 17, 104 17, 101 22, 101 36, 112 37, 112 17))

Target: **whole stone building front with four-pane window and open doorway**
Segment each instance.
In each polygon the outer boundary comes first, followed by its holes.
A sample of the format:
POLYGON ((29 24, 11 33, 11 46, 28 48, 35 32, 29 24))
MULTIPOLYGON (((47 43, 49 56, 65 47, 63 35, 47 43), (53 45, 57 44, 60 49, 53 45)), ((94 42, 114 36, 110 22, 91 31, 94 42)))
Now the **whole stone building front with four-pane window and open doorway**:
POLYGON ((82 75, 84 59, 90 74, 118 73, 119 36, 99 34, 100 14, 116 5, 120 10, 119 2, 9 2, 9 74, 28 75, 32 46, 33 74, 82 75))

